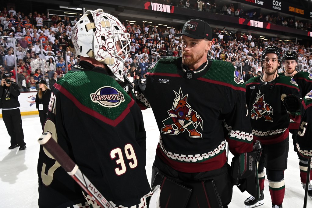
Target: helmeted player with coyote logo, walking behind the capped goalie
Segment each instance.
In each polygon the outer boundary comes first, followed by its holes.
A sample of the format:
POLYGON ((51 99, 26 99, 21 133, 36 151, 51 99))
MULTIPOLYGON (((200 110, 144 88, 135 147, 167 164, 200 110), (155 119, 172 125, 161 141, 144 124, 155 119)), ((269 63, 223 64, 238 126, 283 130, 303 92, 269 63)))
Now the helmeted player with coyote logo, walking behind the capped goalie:
POLYGON ((278 47, 266 47, 261 56, 264 75, 253 77, 246 82, 246 103, 249 109, 254 141, 260 140, 263 151, 259 162, 260 200, 251 196, 246 199, 246 207, 263 204, 264 167, 269 180, 272 207, 282 207, 285 193, 284 170, 287 168, 289 119, 300 119, 300 107, 293 107, 292 102, 300 102, 299 87, 291 77, 279 76, 277 69, 282 62, 278 47), (286 97, 285 106, 281 95, 286 97), (295 97, 298 96, 298 97, 295 97), (291 98, 291 99, 290 99, 291 98), (288 113, 289 112, 289 113, 288 113))

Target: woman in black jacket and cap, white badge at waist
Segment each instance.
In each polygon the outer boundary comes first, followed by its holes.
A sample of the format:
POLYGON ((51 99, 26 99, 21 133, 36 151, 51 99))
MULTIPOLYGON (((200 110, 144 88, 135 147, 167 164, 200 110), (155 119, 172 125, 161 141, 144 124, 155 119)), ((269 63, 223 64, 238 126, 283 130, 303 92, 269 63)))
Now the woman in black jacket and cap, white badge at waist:
POLYGON ((36 108, 39 111, 39 117, 41 126, 43 129, 44 122, 46 121, 46 115, 48 114, 48 106, 51 97, 51 90, 46 86, 45 80, 39 80, 39 91, 36 95, 36 108))

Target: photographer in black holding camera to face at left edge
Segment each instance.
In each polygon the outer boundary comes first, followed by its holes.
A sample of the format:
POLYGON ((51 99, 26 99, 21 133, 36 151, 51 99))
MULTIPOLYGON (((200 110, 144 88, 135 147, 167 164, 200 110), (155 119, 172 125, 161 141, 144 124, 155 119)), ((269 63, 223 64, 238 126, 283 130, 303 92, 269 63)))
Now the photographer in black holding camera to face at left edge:
POLYGON ((9 73, 3 74, 0 86, 0 108, 2 109, 2 118, 7 127, 7 132, 11 137, 10 150, 18 146, 20 147, 19 150, 26 149, 21 111, 19 109, 20 103, 17 99, 20 93, 17 83, 11 81, 11 75, 9 73))

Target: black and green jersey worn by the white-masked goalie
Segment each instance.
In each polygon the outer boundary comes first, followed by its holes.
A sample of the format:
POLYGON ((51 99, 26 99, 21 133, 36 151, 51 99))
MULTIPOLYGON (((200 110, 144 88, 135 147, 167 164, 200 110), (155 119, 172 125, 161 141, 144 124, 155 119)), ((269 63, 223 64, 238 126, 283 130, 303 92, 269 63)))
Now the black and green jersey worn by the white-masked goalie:
MULTIPOLYGON (((53 86, 44 131, 52 133, 111 204, 146 207, 151 189, 142 112, 103 68, 92 69, 86 62, 80 66, 90 69, 76 66, 79 71, 68 72, 53 86)), ((85 205, 80 186, 42 146, 38 176, 39 207, 85 205)))

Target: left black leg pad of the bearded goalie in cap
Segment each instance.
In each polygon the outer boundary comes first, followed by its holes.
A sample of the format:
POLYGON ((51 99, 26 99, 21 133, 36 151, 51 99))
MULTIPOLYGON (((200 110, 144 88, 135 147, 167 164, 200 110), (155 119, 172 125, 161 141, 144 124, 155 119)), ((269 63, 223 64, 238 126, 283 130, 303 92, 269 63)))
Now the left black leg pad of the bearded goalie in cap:
POLYGON ((188 204, 192 189, 189 189, 171 179, 156 173, 152 187, 160 185, 160 207, 181 207, 188 204))

